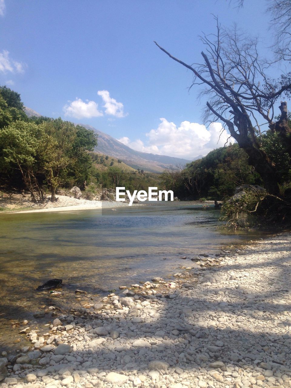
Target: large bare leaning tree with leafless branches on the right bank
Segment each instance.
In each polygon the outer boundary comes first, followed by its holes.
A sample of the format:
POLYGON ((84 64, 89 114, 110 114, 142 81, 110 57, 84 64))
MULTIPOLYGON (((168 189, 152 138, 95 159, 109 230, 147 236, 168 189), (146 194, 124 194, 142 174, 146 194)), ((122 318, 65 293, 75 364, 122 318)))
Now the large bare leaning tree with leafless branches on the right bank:
MULTIPOLYGON (((216 19, 217 20, 217 19, 216 19)), ((171 59, 182 64, 193 73, 194 85, 203 85, 201 95, 208 98, 204 111, 204 122, 220 119, 223 128, 239 147, 249 156, 249 164, 261 175, 268 192, 279 193, 277 173, 260 144, 261 126, 275 126, 274 104, 284 92, 291 90, 291 76, 279 81, 268 78, 257 51, 257 40, 242 36, 236 29, 229 32, 217 21, 217 33, 212 40, 200 37, 206 50, 201 52, 203 62, 186 64, 156 45, 171 59)), ((281 127, 288 131, 286 120, 281 127)), ((277 129, 277 127, 276 127, 277 129)))

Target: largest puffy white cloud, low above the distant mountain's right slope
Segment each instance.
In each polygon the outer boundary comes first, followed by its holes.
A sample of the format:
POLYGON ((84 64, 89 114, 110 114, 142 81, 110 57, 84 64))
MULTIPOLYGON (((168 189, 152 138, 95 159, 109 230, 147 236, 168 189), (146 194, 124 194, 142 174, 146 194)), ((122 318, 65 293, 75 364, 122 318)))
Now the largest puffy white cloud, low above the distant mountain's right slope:
POLYGON ((119 141, 136 151, 193 159, 198 155, 206 155, 215 148, 223 147, 229 137, 226 131, 222 132, 220 123, 211 123, 206 128, 201 124, 183 121, 177 127, 175 123, 165 118, 160 120, 158 128, 146 134, 148 144, 145 145, 140 139, 132 142, 128 137, 122 137, 119 141))

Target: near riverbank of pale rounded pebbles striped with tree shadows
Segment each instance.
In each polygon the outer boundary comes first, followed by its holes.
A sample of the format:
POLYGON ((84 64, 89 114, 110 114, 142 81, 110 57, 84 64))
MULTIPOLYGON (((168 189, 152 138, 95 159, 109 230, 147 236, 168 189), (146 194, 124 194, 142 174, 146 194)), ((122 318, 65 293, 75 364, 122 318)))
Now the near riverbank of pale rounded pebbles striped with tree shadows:
POLYGON ((174 282, 52 306, 47 333, 25 322, 31 346, 0 361, 2 387, 290 387, 290 250, 281 234, 185 258, 174 282))

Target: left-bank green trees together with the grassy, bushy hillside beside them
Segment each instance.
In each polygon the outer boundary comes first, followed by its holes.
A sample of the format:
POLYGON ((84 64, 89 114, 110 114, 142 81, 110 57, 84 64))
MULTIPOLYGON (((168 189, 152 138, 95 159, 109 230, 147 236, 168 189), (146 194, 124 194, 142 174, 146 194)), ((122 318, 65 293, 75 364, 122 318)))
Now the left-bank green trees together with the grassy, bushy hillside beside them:
POLYGON ((33 201, 55 200, 74 185, 92 199, 100 189, 160 187, 160 174, 144 173, 120 159, 92 152, 97 135, 61 118, 28 118, 20 95, 0 87, 0 186, 28 190, 33 201))

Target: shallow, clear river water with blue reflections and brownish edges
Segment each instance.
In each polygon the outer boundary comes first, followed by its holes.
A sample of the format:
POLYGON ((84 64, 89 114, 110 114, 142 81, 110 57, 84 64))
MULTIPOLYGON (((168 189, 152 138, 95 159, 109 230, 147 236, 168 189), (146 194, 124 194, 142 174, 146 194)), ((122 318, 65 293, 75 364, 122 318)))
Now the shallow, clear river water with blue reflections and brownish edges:
POLYGON ((182 256, 262 237, 217 229, 219 217, 220 210, 193 202, 0 215, 0 348, 23 341, 17 322, 35 321, 36 311, 80 307, 89 297, 76 296, 76 288, 95 301, 121 285, 170 279, 193 264, 182 256), (53 278, 63 279, 61 296, 35 291, 53 278))

